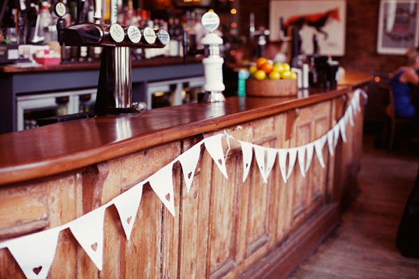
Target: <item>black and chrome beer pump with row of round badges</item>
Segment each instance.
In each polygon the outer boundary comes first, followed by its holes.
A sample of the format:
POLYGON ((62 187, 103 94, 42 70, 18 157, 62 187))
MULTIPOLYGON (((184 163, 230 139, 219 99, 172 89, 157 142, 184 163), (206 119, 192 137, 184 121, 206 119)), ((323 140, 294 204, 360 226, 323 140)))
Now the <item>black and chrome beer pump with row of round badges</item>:
POLYGON ((101 0, 93 0, 94 22, 82 22, 84 1, 78 1, 78 23, 65 26, 66 6, 57 2, 54 13, 60 45, 103 47, 94 114, 135 115, 131 100, 131 47, 161 48, 169 43, 169 33, 150 27, 117 24, 117 0, 110 3, 110 24, 101 24, 101 0))

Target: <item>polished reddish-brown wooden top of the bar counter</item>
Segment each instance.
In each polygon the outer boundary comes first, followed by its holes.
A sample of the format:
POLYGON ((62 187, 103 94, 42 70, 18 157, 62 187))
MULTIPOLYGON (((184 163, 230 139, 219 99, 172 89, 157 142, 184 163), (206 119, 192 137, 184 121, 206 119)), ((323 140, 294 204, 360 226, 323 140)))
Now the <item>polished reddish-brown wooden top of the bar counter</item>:
MULTIPOLYGON (((351 73, 346 74, 348 79, 351 73)), ((367 82, 371 75, 357 74, 367 82)), ((356 80, 355 77, 352 80, 356 80)), ((354 82, 356 84, 356 82, 354 82)), ((0 135, 0 185, 38 179, 117 158, 297 107, 336 98, 350 86, 304 89, 302 98, 235 96, 224 103, 193 103, 141 112, 55 123, 0 135)))

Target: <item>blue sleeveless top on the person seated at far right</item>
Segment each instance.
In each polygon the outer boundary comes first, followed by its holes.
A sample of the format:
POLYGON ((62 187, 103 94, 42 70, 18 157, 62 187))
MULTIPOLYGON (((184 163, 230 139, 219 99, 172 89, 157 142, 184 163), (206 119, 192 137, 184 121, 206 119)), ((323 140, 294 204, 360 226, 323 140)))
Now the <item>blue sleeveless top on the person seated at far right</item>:
POLYGON ((416 115, 416 108, 411 103, 409 94, 413 91, 413 84, 400 82, 400 76, 406 72, 406 69, 400 70, 395 77, 390 80, 393 96, 395 100, 396 116, 400 118, 411 118, 416 115))

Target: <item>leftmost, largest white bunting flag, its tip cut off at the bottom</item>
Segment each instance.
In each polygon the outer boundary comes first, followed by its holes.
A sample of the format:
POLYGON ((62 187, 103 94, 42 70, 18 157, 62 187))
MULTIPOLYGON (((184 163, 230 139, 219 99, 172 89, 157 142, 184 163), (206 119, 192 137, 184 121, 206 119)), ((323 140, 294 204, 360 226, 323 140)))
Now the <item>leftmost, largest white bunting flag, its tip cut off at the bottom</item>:
POLYGON ((7 247, 28 279, 47 278, 54 260, 60 227, 8 241, 7 247))

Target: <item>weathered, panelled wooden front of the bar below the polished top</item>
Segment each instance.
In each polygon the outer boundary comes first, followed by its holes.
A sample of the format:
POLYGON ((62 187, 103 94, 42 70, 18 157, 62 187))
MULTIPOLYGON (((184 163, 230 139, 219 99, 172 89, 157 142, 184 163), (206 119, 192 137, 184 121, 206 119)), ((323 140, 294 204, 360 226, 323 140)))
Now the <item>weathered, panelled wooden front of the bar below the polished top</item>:
MULTIPOLYGON (((330 130, 336 122, 337 103, 326 100, 230 126, 226 132, 237 140, 271 148, 301 146, 330 130)), ((360 121, 362 115, 358 114, 356 125, 360 121)), ((359 128, 353 129, 347 136, 352 144, 359 144, 359 128)), ((7 218, 0 218, 0 238, 68 223, 147 179, 204 137, 223 131, 186 137, 43 181, 3 187, 0 216, 7 218), (20 214, 16 209, 22 209, 22 204, 30 210, 20 214)), ((226 138, 223 147, 226 151, 226 138)), ((50 278, 246 276, 252 266, 269 259, 277 249, 293 245, 289 243, 304 224, 336 204, 328 198, 334 197, 339 186, 333 183, 335 159, 329 156, 327 144, 323 148, 325 169, 314 151, 306 177, 302 177, 297 159, 287 183, 282 180, 278 161, 267 183, 263 183, 254 155, 249 176, 243 182, 240 144, 230 140, 230 147, 226 179, 202 146, 189 193, 182 168, 175 163, 175 217, 146 183, 129 241, 115 206, 106 209, 103 271, 96 269, 68 229, 61 232, 50 278)), ((0 278, 24 278, 7 249, 0 250, 0 263, 0 278)))

